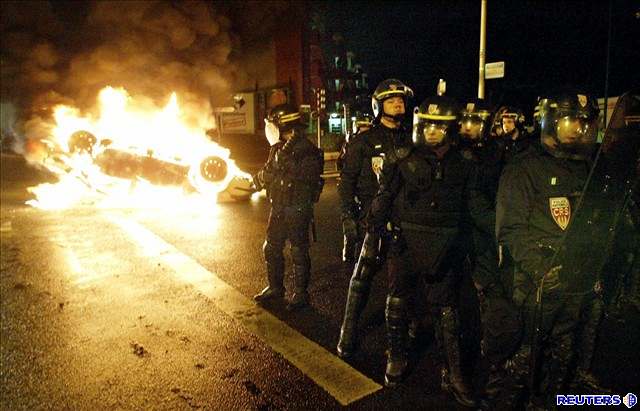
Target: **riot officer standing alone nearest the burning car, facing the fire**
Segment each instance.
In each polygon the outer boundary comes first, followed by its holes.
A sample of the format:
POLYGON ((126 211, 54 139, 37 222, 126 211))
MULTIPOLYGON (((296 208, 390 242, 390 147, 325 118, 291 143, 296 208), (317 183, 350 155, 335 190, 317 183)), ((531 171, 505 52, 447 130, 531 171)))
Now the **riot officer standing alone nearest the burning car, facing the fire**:
POLYGON ((322 151, 304 136, 300 112, 289 104, 270 110, 265 134, 272 144, 269 158, 253 180, 257 189, 266 189, 271 203, 263 246, 268 286, 254 299, 262 303, 284 296, 282 252, 289 240, 294 289, 287 308, 293 310, 309 303, 309 224, 322 190, 324 159, 322 151))

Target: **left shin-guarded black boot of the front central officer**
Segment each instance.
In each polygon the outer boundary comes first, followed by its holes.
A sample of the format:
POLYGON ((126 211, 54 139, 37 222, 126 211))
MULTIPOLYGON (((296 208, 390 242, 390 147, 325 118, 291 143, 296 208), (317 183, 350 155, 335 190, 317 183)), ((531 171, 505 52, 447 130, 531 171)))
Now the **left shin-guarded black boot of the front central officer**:
POLYGON ((406 311, 406 301, 403 298, 387 297, 385 316, 389 348, 384 373, 384 385, 387 387, 395 387, 402 382, 409 364, 406 311))

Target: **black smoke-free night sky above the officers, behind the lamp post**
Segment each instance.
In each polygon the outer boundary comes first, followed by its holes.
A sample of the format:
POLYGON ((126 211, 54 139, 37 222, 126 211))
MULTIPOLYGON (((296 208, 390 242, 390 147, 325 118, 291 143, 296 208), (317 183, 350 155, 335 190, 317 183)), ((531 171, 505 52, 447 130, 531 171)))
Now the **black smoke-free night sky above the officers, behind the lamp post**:
MULTIPOLYGON (((609 95, 638 85, 640 2, 613 1, 609 95)), ((488 0, 486 62, 505 61, 505 78, 486 80, 493 104, 530 113, 536 97, 577 86, 605 94, 609 2, 488 0)), ((435 93, 463 99, 478 90, 480 1, 341 2, 326 9, 328 31, 341 32, 374 88, 405 81, 415 104, 435 93)))

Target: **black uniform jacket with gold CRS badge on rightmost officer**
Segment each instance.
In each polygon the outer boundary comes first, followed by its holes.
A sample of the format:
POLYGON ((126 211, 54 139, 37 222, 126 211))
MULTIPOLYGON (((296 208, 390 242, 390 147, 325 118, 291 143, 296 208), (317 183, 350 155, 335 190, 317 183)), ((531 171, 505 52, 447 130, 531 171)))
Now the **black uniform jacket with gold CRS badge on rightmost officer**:
POLYGON ((500 178, 496 236, 518 268, 539 280, 558 248, 587 179, 590 162, 557 158, 539 143, 500 178))

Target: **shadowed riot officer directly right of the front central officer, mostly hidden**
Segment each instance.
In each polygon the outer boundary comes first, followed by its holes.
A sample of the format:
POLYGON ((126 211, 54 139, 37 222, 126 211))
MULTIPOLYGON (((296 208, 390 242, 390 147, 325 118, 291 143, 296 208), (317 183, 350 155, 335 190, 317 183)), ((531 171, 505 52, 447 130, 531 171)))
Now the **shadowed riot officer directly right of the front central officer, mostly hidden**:
MULTIPOLYGON (((498 181, 504 165, 503 151, 489 139, 491 112, 484 100, 470 99, 460 115, 460 152, 476 164, 477 188, 494 205, 498 181)), ((481 220, 482 226, 471 224, 471 271, 480 302, 482 354, 489 366, 485 394, 496 397, 505 377, 504 363, 518 348, 521 337, 519 314, 510 296, 511 265, 500 261, 495 240, 495 208, 481 220), (499 267, 499 262, 500 267, 499 267)))

